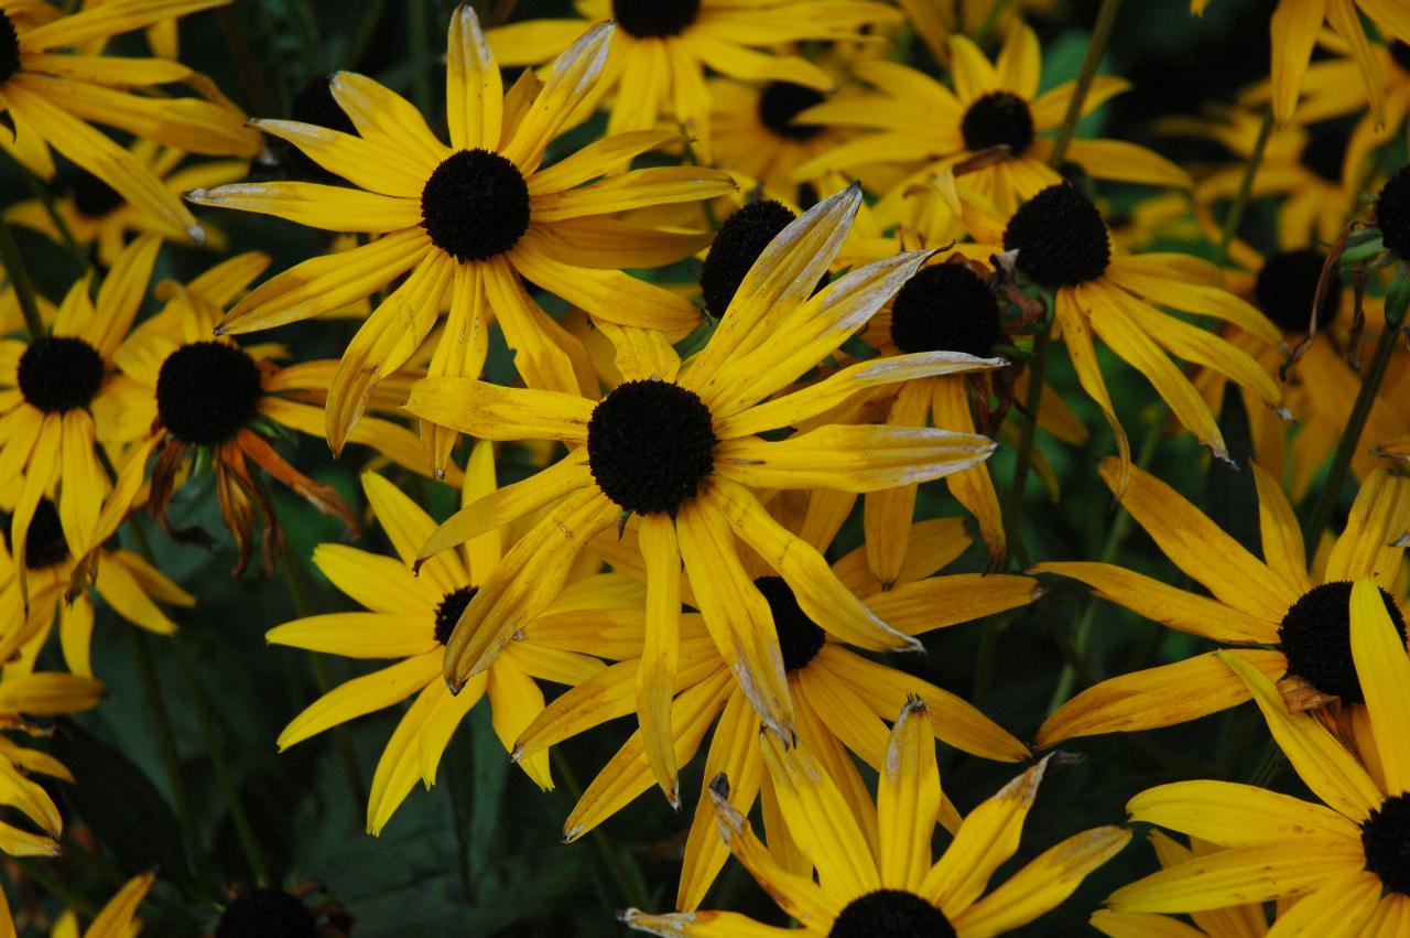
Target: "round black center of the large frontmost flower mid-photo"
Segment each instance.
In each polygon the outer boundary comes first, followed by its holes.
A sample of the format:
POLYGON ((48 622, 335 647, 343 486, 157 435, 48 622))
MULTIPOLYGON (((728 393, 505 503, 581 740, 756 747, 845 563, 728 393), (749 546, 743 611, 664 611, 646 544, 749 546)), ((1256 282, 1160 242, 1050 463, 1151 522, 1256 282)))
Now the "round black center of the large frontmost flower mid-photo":
POLYGON ((598 488, 637 515, 675 511, 713 468, 709 408, 668 381, 627 381, 588 420, 588 467, 598 488))

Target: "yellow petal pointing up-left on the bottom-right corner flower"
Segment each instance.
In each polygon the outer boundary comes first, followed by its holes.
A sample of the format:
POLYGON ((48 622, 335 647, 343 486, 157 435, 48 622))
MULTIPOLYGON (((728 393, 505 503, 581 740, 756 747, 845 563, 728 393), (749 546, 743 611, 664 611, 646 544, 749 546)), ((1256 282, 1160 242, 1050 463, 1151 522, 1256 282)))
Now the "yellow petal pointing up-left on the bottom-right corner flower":
POLYGON ((1382 794, 1361 763, 1313 717, 1287 712, 1283 695, 1262 671, 1225 652, 1214 654, 1248 684, 1273 739, 1307 787, 1328 807, 1363 821, 1382 794))

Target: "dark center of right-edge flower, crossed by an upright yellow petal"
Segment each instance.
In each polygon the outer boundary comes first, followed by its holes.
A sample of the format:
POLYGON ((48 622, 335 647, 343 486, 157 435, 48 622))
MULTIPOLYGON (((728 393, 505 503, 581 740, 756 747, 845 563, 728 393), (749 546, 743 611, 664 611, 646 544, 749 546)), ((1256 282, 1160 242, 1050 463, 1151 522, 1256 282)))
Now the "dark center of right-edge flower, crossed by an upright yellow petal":
MULTIPOLYGON (((1390 621, 1404 640, 1406 623, 1400 607, 1385 590, 1390 621)), ((1283 614, 1277 640, 1287 656, 1287 673, 1294 674, 1323 694, 1348 704, 1363 704, 1361 678, 1351 657, 1351 583, 1335 580, 1313 587, 1283 614)))

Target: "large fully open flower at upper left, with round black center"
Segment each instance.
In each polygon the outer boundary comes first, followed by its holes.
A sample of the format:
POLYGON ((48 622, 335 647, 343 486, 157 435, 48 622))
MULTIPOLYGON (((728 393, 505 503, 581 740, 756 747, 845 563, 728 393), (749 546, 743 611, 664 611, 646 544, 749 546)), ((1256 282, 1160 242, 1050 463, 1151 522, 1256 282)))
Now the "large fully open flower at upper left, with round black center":
MULTIPOLYGON (((498 322, 530 386, 577 394, 591 382, 581 344, 529 296, 520 276, 595 317, 687 333, 699 313, 684 298, 622 272, 688 255, 704 237, 606 217, 733 189, 723 173, 694 166, 616 172, 674 134, 618 134, 541 168, 568 114, 598 83, 612 39, 601 23, 558 59, 543 83, 532 73, 503 92, 499 66, 470 4, 450 23, 446 97, 450 147, 406 99, 348 72, 331 93, 358 135, 283 120, 254 121, 352 183, 241 183, 188 197, 329 229, 382 233, 371 244, 305 261, 262 284, 220 323, 245 333, 343 309, 410 271, 343 353, 327 406, 327 437, 341 451, 376 382, 410 358, 444 303, 450 319, 433 375, 479 375, 498 322), (582 185, 589 183, 589 185, 582 185)), ((427 427, 434 465, 455 434, 427 427)))

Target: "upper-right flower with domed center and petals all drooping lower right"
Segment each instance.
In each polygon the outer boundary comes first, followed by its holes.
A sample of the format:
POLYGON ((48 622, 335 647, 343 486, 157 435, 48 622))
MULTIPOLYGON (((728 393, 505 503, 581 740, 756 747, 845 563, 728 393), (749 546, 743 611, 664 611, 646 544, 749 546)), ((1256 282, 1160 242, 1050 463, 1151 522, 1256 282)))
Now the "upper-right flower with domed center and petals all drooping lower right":
POLYGON ((1003 236, 994 231, 984 237, 1001 240, 1004 251, 1015 252, 1018 272, 1050 293, 1053 323, 1077 381, 1117 436, 1122 475, 1131 464, 1131 444, 1097 367, 1093 334, 1141 371, 1176 419, 1218 458, 1228 460, 1228 450, 1214 413, 1169 354, 1214 370, 1282 412, 1277 382, 1248 353, 1156 309, 1170 306, 1221 319, 1276 347, 1282 333, 1258 309, 1222 289, 1222 275, 1213 265, 1184 254, 1114 254, 1097 206, 1070 183, 1041 190, 1008 219, 1003 236))

